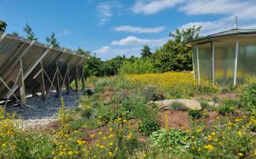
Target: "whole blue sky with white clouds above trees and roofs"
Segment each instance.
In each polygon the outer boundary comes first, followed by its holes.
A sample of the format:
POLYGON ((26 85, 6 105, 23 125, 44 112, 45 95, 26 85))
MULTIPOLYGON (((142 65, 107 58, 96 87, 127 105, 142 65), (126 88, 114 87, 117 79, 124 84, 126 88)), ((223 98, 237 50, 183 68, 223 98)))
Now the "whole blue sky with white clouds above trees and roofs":
POLYGON ((202 35, 239 27, 256 28, 253 0, 0 0, 7 32, 24 35, 28 23, 39 42, 52 31, 62 46, 79 46, 102 60, 139 56, 142 46, 157 49, 176 28, 202 26, 202 35))

